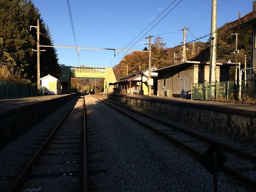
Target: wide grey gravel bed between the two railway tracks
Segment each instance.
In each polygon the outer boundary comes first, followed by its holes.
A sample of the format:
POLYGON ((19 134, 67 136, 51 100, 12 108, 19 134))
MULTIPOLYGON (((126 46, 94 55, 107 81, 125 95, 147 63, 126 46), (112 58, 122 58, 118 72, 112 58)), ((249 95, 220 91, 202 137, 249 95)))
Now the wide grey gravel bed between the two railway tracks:
MULTIPOLYGON (((86 96, 90 167, 106 169, 90 175, 90 184, 109 183, 94 191, 212 191, 212 174, 190 154, 173 146, 92 96, 86 96), (90 141, 94 141, 90 143, 90 141), (106 149, 107 147, 107 149, 106 149), (90 151, 100 151, 92 153, 90 151), (103 161, 98 161, 103 160, 103 161), (112 185, 113 184, 113 185, 112 185)), ((244 192, 244 187, 218 173, 218 191, 244 192)))

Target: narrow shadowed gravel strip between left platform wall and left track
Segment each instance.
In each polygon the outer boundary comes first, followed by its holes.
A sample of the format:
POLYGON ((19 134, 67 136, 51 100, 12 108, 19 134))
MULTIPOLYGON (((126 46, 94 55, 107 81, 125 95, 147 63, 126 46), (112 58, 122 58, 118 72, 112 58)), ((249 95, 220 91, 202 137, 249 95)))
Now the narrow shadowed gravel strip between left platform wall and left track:
POLYGON ((5 191, 11 179, 22 170, 44 138, 58 124, 77 97, 58 108, 50 116, 0 150, 0 191, 5 191), (9 180, 8 180, 9 178, 9 180))

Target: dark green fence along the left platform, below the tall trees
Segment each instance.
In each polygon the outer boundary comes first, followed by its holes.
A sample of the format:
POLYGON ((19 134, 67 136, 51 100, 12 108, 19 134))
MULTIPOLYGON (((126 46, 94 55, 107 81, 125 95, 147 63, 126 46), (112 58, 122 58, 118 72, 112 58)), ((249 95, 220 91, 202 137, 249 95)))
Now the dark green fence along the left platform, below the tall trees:
POLYGON ((37 87, 27 84, 0 82, 0 98, 36 96, 37 87))

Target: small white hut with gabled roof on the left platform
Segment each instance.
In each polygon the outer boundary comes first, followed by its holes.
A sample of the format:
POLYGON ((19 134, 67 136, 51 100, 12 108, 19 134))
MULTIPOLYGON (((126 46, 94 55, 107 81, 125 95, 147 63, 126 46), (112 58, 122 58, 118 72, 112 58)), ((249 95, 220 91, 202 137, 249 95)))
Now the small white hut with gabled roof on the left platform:
POLYGON ((51 76, 50 74, 40 78, 40 80, 41 80, 41 86, 45 87, 45 91, 44 91, 45 93, 61 94, 62 88, 61 88, 60 80, 58 80, 54 76, 51 76))

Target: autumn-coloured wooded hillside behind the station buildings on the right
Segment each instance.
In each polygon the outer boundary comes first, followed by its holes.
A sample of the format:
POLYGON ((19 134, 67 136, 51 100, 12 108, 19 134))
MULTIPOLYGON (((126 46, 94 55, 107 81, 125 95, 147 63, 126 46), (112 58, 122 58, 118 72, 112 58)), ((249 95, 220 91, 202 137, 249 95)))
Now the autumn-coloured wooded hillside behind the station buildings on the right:
MULTIPOLYGON (((227 63, 228 60, 236 62, 236 54, 232 54, 236 49, 236 36, 232 35, 234 31, 225 30, 226 24, 218 28, 218 44, 217 44, 217 62, 227 63)), ((210 37, 210 36, 209 36, 210 37)), ((210 39, 210 38, 209 38, 210 39)), ((240 53, 237 56, 238 62, 244 65, 244 56, 246 54, 246 63, 250 64, 250 31, 240 31, 238 50, 240 53)), ((173 48, 167 48, 167 44, 162 37, 157 37, 152 45, 152 65, 156 65, 159 68, 173 65, 174 55, 177 57, 177 62, 180 62, 182 46, 177 45, 173 48)), ((193 43, 186 44, 186 58, 191 61, 208 62, 210 60, 210 40, 207 42, 201 42, 200 40, 193 43)), ((136 70, 139 70, 139 66, 142 68, 148 66, 148 53, 132 52, 127 54, 115 65, 113 70, 116 77, 126 75, 126 65, 128 67, 128 74, 136 70)), ((230 70, 230 80, 234 78, 234 68, 230 70)))

